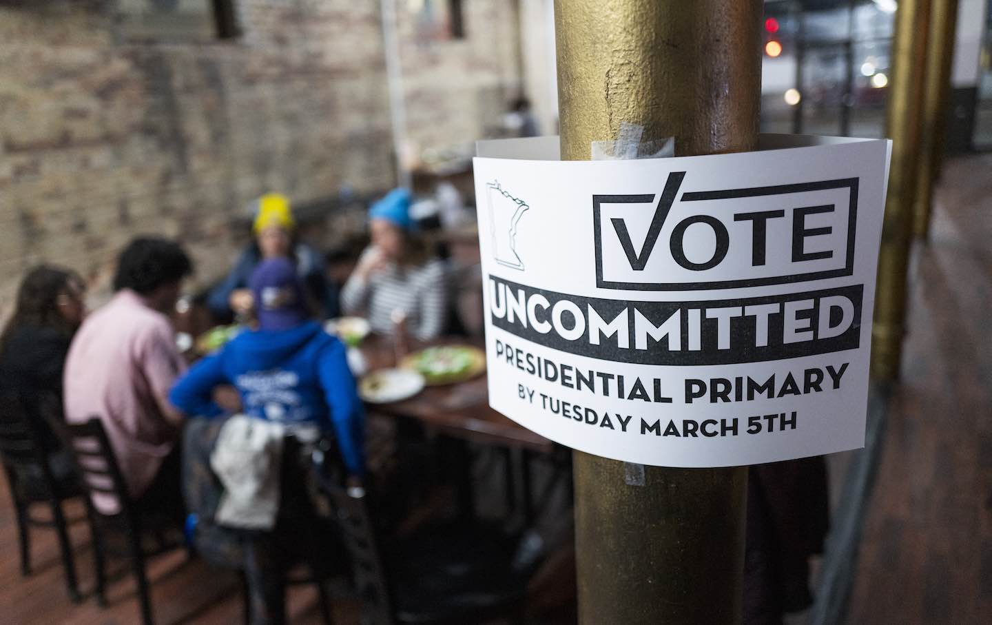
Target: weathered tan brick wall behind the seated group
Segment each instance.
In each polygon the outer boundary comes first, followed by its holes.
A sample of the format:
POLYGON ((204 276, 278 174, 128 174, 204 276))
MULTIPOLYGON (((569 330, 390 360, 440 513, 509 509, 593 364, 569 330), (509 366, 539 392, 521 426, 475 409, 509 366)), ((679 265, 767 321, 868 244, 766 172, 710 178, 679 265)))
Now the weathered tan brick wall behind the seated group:
MULTIPOLYGON (((411 137, 479 138, 519 81, 513 3, 466 2, 468 37, 426 44, 398 2, 411 137)), ((35 263, 75 268, 99 299, 121 245, 156 232, 186 244, 206 284, 260 193, 394 184, 379 3, 236 9, 234 40, 136 42, 113 1, 0 3, 0 318, 35 263)), ((345 227, 328 219, 321 231, 345 227)))

